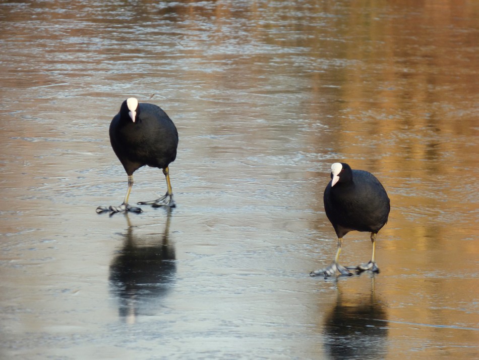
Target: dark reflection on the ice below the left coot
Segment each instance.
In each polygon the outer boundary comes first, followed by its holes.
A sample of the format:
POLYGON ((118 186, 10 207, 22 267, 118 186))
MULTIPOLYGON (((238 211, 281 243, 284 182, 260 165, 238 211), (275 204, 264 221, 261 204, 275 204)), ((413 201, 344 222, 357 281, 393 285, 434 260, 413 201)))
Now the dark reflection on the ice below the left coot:
MULTIPOLYGON (((171 209, 163 234, 135 235, 129 214, 125 243, 110 265, 111 292, 118 298, 118 313, 127 323, 137 316, 155 315, 158 302, 171 289, 176 273, 174 246, 168 241, 171 209)), ((117 216, 117 214, 113 215, 117 216)))

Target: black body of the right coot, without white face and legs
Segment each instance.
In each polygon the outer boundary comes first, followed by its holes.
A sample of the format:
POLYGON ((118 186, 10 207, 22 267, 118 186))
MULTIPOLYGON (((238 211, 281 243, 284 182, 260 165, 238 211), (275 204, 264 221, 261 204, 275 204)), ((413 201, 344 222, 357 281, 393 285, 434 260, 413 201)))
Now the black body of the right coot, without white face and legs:
POLYGON ((377 233, 388 221, 389 198, 376 177, 347 164, 339 181, 324 190, 324 210, 338 237, 352 230, 377 233))

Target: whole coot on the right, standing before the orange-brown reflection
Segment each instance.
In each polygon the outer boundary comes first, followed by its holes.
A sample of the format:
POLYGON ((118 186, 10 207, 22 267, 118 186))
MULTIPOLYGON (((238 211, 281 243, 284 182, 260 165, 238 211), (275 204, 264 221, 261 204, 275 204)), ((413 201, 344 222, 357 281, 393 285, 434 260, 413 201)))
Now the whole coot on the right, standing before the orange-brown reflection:
POLYGON ((387 223, 390 204, 383 185, 364 170, 352 170, 345 163, 331 166, 331 181, 324 190, 324 210, 338 236, 338 248, 334 262, 328 267, 311 272, 311 276, 332 276, 338 270, 352 275, 350 270, 379 272, 375 262, 376 235, 387 223), (352 267, 339 265, 343 236, 349 231, 369 231, 373 242, 373 254, 367 264, 352 267))

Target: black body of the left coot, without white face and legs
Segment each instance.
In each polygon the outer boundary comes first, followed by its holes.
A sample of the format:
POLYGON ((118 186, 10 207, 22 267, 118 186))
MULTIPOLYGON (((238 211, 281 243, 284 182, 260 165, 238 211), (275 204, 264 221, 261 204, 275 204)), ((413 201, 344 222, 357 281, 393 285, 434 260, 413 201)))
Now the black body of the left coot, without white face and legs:
POLYGON ((110 123, 113 151, 128 175, 144 165, 164 169, 176 158, 178 132, 171 119, 153 104, 139 103, 132 121, 126 100, 110 123))

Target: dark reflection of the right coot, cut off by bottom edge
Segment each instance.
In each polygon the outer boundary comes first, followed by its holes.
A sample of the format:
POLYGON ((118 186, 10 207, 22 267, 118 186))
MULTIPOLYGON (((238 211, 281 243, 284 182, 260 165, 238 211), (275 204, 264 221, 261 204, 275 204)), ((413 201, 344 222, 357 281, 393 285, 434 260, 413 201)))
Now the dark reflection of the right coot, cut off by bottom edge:
POLYGON ((379 360, 386 357, 386 304, 376 297, 374 281, 373 275, 369 294, 352 293, 348 289, 350 282, 337 281, 336 304, 322 325, 324 347, 331 358, 379 360))

